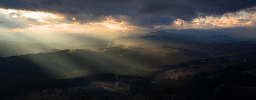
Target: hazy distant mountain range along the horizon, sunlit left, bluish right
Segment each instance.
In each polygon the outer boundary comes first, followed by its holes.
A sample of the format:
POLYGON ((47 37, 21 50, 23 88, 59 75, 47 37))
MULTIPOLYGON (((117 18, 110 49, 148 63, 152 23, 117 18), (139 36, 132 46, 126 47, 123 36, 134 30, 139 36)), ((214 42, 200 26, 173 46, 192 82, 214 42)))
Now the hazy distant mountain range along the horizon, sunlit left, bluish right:
MULTIPOLYGON (((113 47, 118 44, 127 46, 148 45, 148 46, 174 46, 198 50, 202 46, 215 43, 230 46, 249 46, 254 47, 255 40, 254 28, 225 28, 208 30, 155 30, 145 34, 123 36, 119 38, 99 37, 98 35, 88 34, 66 34, 71 37, 65 43, 26 43, 17 41, 0 41, 0 57, 21 55, 27 53, 51 52, 65 49, 91 49, 113 47), (240 33, 240 34, 238 34, 240 33), (243 35, 246 34, 246 35, 243 35)), ((106 36, 107 37, 107 36, 106 36)), ((211 46, 209 46, 211 47, 211 46)), ((212 48, 211 48, 212 49, 212 48)))

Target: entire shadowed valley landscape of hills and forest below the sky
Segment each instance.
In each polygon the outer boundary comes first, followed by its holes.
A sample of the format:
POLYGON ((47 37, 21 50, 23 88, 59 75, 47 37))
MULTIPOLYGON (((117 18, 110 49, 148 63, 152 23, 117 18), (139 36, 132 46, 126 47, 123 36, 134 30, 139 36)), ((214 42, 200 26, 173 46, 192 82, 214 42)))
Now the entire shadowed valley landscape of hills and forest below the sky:
POLYGON ((226 93, 242 94, 237 96, 238 98, 245 95, 248 98, 254 97, 254 95, 248 96, 251 91, 242 88, 254 87, 255 41, 238 41, 236 38, 226 36, 191 37, 164 31, 115 38, 108 40, 110 42, 99 42, 99 39, 96 41, 97 43, 73 46, 61 43, 1 41, 0 46, 3 47, 0 58, 0 80, 3 81, 0 85, 1 97, 5 99, 103 99, 105 97, 229 99, 226 93), (233 76, 243 81, 237 81, 233 76), (227 78, 230 79, 226 80, 227 78), (119 82, 125 87, 115 85, 119 82), (110 86, 96 87, 108 89, 106 94, 84 89, 97 83, 111 83, 110 86), (186 93, 184 90, 188 85, 190 89, 186 93), (54 90, 54 88, 59 90, 55 94, 37 93, 42 89, 54 90), (118 88, 125 88, 126 96, 121 96, 122 90, 118 88), (197 91, 193 88, 203 89, 197 91), (64 96, 60 94, 60 90, 63 92, 68 89, 70 92, 79 89, 82 93, 64 96), (204 91, 209 89, 209 92, 204 91), (236 93, 231 92, 234 89, 236 93), (222 90, 225 90, 225 93, 221 93, 222 90), (219 93, 221 95, 217 95, 219 93), (24 96, 28 98, 22 98, 24 96))

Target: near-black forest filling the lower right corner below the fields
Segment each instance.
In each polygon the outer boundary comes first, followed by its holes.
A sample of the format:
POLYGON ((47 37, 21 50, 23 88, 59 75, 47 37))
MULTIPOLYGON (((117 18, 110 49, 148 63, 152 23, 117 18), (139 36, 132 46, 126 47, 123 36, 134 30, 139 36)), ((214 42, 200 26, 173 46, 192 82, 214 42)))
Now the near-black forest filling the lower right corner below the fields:
POLYGON ((245 67, 236 66, 179 79, 161 79, 159 93, 172 95, 174 99, 254 99, 256 94, 243 87, 256 87, 256 77, 243 75, 245 67), (175 98, 176 97, 176 98, 175 98))

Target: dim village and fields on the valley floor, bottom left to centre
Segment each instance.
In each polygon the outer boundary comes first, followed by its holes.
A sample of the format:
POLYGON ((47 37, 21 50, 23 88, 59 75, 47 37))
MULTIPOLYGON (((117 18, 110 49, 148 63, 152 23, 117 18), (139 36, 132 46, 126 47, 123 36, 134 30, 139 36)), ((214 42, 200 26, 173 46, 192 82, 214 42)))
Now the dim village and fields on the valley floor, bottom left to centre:
MULTIPOLYGON (((8 100, 46 100, 46 99, 130 99, 129 84, 101 81, 89 86, 73 88, 49 88, 20 95, 8 100)), ((7 100, 7 99, 6 99, 7 100)))

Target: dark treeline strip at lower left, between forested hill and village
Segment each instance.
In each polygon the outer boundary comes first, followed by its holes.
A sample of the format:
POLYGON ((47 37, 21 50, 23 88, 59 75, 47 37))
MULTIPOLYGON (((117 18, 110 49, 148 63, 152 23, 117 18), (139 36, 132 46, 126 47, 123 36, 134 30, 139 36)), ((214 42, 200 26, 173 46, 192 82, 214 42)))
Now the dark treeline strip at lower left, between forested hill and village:
POLYGON ((45 79, 18 81, 17 83, 1 84, 0 99, 26 94, 35 90, 46 88, 68 88, 91 85, 95 81, 115 81, 116 75, 113 73, 94 74, 86 77, 76 77, 67 79, 45 79))

